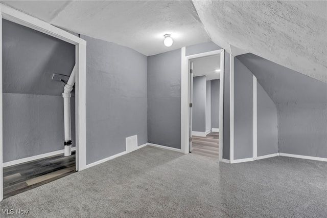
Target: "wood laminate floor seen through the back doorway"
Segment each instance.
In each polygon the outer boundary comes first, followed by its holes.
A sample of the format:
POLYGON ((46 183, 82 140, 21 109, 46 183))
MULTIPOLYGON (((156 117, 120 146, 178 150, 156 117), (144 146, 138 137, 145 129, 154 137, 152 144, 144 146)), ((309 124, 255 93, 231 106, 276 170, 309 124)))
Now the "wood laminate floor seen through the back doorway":
POLYGON ((212 132, 206 137, 192 136, 192 154, 218 159, 219 133, 212 132))

